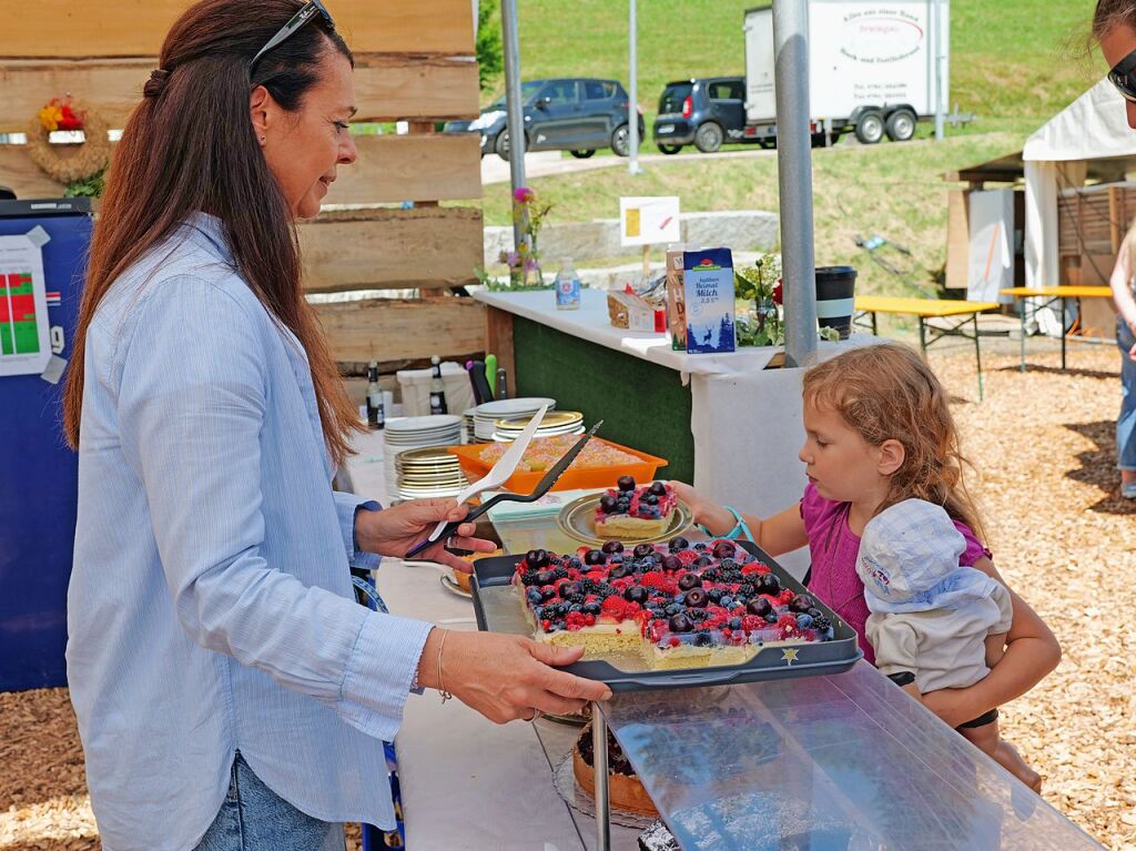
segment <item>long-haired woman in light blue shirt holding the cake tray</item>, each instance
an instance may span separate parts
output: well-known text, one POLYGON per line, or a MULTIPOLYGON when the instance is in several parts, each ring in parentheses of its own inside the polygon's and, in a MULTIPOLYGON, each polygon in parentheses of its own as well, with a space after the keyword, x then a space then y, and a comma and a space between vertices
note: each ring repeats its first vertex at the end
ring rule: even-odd
POLYGON ((465 516, 332 490, 357 420, 294 220, 356 158, 351 70, 318 0, 202 0, 115 152, 66 392, 67 673, 115 851, 342 849, 343 821, 394 825, 375 740, 411 691, 498 723, 609 694, 550 667, 579 649, 351 599, 350 566, 465 516))

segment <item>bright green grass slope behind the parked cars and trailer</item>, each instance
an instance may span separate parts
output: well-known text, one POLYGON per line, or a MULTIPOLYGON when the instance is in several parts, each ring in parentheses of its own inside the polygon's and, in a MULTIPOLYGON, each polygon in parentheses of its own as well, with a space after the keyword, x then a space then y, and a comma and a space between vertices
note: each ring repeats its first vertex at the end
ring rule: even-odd
MULTIPOLYGON (((638 101, 651 126, 663 85, 745 73, 742 18, 759 0, 640 0, 638 101)), ((1095 0, 953 0, 951 102, 976 112, 976 130, 1043 122, 1104 73, 1083 47, 1095 0)), ((628 82, 625 0, 523 0, 525 80, 613 77, 628 82)), ((504 91, 498 81, 484 102, 504 91)))

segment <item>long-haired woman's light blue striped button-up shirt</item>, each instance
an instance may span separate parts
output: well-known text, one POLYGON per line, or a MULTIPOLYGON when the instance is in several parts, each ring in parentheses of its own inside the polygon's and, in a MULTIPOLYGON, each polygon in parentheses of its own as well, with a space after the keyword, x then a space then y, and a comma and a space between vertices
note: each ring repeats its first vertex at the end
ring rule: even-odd
POLYGON ((106 848, 192 849, 240 749, 327 821, 393 827, 383 750, 431 626, 353 600, 311 374, 199 215, 86 339, 67 678, 106 848))

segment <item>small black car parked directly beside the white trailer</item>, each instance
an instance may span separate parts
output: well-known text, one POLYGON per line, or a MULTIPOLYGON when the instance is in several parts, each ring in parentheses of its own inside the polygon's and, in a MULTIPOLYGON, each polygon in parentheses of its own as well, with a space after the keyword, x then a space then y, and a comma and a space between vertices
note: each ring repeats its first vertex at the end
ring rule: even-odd
POLYGON ((744 142, 745 77, 699 77, 667 83, 654 119, 654 143, 663 153, 693 144, 712 153, 724 142, 744 142))

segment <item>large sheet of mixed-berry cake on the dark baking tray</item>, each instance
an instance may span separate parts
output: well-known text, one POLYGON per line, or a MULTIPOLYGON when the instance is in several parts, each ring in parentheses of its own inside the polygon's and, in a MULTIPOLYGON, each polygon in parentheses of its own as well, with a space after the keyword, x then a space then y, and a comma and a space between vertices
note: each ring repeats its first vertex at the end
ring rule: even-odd
POLYGON ((537 641, 583 644, 584 659, 638 657, 649 669, 741 665, 763 648, 830 641, 809 594, 733 541, 625 549, 608 541, 575 556, 531 550, 513 585, 537 641))

